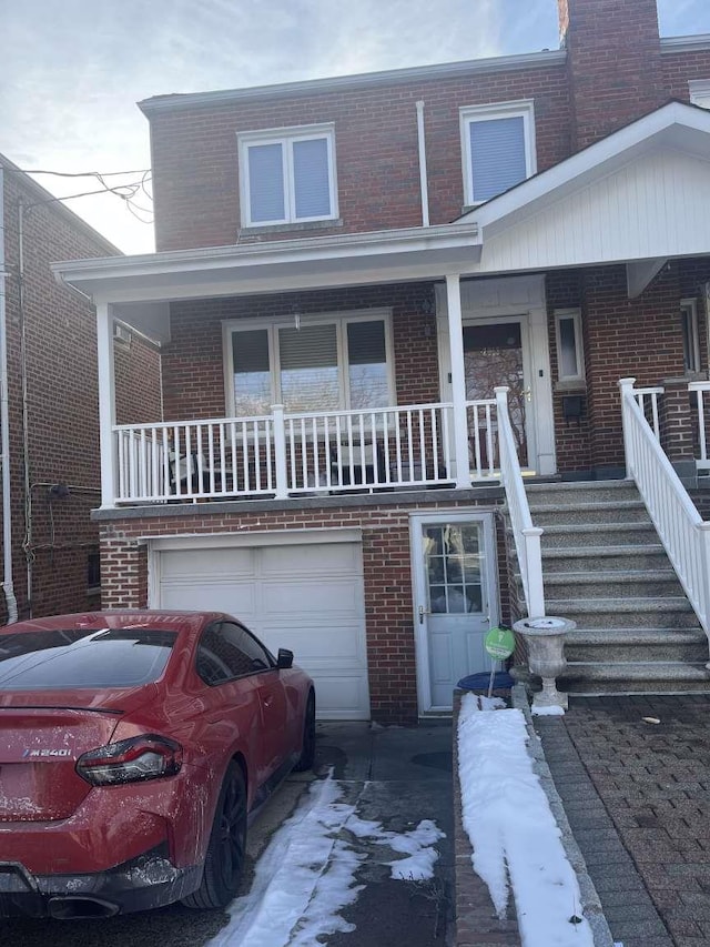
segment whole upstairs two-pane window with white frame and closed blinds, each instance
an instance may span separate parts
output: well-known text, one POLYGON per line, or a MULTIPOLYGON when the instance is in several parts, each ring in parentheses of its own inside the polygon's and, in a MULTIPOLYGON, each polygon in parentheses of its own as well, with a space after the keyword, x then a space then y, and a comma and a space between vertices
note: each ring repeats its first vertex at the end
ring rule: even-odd
POLYGON ((239 152, 243 226, 337 216, 333 125, 240 134, 239 152))

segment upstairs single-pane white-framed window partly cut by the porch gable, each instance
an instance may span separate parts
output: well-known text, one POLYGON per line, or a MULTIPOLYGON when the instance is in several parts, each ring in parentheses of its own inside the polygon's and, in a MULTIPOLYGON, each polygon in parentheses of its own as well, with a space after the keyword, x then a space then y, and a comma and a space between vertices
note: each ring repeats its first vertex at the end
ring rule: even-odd
POLYGON ((460 110, 464 201, 480 204, 536 172, 531 101, 460 110))

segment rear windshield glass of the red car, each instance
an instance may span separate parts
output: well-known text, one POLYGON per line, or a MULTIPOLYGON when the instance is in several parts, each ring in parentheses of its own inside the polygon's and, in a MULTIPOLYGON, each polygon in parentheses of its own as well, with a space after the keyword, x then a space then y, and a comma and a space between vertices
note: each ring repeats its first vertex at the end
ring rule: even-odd
POLYGON ((0 635, 0 692, 135 687, 163 673, 176 632, 69 628, 0 635))

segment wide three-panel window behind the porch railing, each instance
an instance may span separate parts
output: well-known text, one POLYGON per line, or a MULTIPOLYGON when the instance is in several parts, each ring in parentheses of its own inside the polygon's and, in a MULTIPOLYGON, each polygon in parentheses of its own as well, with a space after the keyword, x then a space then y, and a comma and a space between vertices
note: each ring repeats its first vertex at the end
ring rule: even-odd
POLYGON ((235 417, 394 404, 389 313, 225 323, 227 406, 235 417), (297 324, 296 324, 297 323, 297 324))

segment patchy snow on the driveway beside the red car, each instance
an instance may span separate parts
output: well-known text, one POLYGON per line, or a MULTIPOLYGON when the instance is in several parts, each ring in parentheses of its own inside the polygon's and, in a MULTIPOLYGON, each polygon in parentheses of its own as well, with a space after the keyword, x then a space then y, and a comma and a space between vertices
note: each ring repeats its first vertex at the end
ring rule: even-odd
POLYGON ((349 844, 353 836, 407 856, 386 863, 393 878, 432 877, 438 858, 433 846, 444 837, 434 822, 386 832, 381 823, 362 819, 357 804, 343 803, 342 796, 332 777, 313 783, 258 859, 251 891, 232 901, 230 923, 209 947, 307 947, 318 935, 354 930, 339 916, 363 889, 355 873, 367 856, 349 844))

